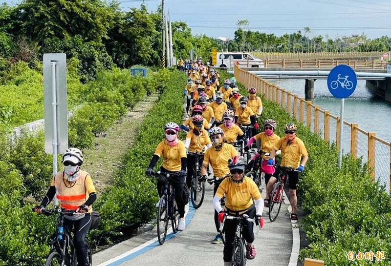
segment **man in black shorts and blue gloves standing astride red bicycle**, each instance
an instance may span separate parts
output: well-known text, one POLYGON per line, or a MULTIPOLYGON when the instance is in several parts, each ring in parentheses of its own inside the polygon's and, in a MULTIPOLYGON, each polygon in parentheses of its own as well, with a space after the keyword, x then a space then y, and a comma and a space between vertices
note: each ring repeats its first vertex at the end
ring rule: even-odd
MULTIPOLYGON (((270 159, 267 160, 267 164, 274 165, 274 156, 276 152, 281 149, 282 154, 282 166, 290 166, 296 168, 297 171, 303 172, 304 166, 308 160, 308 152, 301 139, 296 136, 297 127, 294 123, 287 123, 284 126, 285 137, 281 138, 270 152, 270 159), (303 159, 302 159, 303 158, 303 159), (300 161, 302 163, 300 164, 300 161)), ((299 173, 297 171, 288 171, 289 175, 289 195, 290 205, 292 206, 292 213, 290 215, 291 220, 297 220, 296 207, 297 207, 297 196, 296 188, 297 182, 299 181, 299 173)), ((273 189, 273 185, 276 183, 277 178, 281 171, 277 169, 273 176, 270 178, 269 183, 266 186, 266 199, 269 199, 270 193, 273 189)))

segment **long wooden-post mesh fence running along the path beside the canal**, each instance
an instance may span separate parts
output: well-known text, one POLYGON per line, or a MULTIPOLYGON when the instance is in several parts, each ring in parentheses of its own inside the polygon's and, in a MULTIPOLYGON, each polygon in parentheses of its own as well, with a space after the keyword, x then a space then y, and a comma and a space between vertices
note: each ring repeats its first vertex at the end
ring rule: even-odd
POLYGON ((382 184, 386 191, 391 187, 391 143, 376 137, 375 132, 367 132, 358 127, 357 123, 344 121, 343 141, 339 143, 340 123, 339 116, 323 110, 311 101, 305 101, 297 94, 267 82, 238 66, 234 67, 234 76, 238 82, 246 87, 255 87, 258 93, 273 102, 277 102, 292 117, 304 123, 311 132, 318 134, 328 143, 335 143, 337 148, 342 144, 344 154, 351 154, 353 158, 363 158, 368 163, 368 173, 382 184))

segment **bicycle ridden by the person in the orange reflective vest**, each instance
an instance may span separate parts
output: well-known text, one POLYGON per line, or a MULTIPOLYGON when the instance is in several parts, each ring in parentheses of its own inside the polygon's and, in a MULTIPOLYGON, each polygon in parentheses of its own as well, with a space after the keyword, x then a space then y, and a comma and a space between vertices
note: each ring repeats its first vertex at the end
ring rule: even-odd
MULTIPOLYGON (((34 208, 32 208, 34 211, 34 208)), ((73 245, 71 232, 64 228, 65 215, 73 216, 75 211, 67 211, 64 208, 42 209, 42 214, 59 215, 56 231, 51 239, 49 256, 47 256, 45 266, 77 266, 76 250, 73 245)), ((92 266, 91 246, 87 238, 84 241, 87 251, 87 265, 92 266)))

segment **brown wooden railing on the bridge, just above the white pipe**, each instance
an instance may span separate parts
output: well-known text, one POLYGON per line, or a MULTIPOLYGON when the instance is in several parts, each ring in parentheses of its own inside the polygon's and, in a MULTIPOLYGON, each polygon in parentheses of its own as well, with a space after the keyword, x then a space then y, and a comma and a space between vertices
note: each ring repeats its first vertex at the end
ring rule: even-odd
POLYGON ((265 67, 282 68, 333 68, 346 64, 353 69, 387 69, 387 62, 369 60, 334 59, 265 59, 265 67))

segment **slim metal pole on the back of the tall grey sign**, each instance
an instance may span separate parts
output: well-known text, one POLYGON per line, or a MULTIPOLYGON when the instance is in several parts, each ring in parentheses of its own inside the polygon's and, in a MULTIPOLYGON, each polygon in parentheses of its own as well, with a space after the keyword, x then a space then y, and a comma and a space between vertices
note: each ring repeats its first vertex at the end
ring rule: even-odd
MULTIPOLYGON (((57 174, 57 89, 56 89, 56 61, 51 61, 52 74, 52 112, 53 112, 53 177, 57 174)), ((58 205, 54 197, 54 206, 58 205)))

